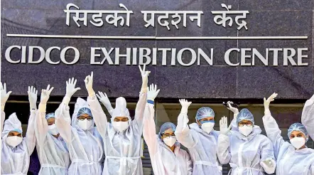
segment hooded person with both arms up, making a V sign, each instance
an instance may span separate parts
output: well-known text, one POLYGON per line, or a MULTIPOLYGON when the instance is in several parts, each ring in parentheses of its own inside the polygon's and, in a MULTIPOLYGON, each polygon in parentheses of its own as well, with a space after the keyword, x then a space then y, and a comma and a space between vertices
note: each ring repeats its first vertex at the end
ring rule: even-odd
MULTIPOLYGON (((141 70, 141 67, 140 67, 141 70)), ((141 162, 141 135, 143 132, 143 118, 146 104, 146 92, 149 71, 141 70, 142 87, 139 95, 139 102, 136 105, 135 117, 131 121, 129 110, 126 108, 126 101, 119 97, 116 107, 112 112, 112 123, 107 122, 107 117, 97 100, 92 88, 93 76, 87 76, 85 85, 88 91, 87 102, 92 110, 99 134, 104 139, 104 161, 103 174, 119 175, 141 175, 143 174, 141 162)), ((107 98, 99 92, 100 101, 107 98)))

